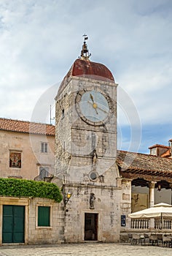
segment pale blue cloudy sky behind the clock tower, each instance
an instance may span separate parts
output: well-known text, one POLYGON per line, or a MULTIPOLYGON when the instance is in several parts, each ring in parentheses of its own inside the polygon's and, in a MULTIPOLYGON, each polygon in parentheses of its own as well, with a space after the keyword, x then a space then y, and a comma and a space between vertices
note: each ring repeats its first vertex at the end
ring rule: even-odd
POLYGON ((118 149, 149 153, 172 138, 171 0, 0 0, 0 117, 50 123, 80 55, 114 75, 118 149))

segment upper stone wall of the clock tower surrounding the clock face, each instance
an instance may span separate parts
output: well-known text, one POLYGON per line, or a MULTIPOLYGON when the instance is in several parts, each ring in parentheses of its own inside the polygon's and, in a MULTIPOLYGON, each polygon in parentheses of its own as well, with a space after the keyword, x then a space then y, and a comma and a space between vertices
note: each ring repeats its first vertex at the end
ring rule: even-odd
POLYGON ((57 176, 67 174, 71 182, 84 182, 95 169, 95 149, 98 155, 95 171, 102 175, 110 169, 113 178, 106 178, 106 181, 113 180, 110 184, 114 185, 118 175, 114 167, 117 157, 117 84, 78 77, 72 77, 66 83, 65 89, 56 97, 55 173, 57 176), (80 118, 76 97, 82 89, 100 89, 111 97, 113 113, 105 125, 91 126, 80 118))

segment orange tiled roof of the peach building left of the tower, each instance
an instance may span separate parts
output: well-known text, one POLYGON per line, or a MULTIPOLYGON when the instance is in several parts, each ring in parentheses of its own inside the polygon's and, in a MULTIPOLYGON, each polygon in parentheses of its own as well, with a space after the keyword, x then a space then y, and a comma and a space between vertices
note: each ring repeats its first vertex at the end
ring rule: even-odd
POLYGON ((0 118, 0 130, 10 132, 24 132, 39 135, 55 135, 55 126, 51 124, 41 124, 30 121, 12 120, 0 118))

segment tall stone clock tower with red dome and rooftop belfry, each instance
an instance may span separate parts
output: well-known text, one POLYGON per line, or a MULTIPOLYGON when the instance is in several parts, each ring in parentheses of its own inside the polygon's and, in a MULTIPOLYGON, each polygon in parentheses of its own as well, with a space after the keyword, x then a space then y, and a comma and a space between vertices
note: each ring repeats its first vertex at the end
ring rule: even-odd
POLYGON ((118 241, 117 83, 106 66, 90 61, 86 40, 55 97, 55 173, 63 184, 64 238, 118 241))

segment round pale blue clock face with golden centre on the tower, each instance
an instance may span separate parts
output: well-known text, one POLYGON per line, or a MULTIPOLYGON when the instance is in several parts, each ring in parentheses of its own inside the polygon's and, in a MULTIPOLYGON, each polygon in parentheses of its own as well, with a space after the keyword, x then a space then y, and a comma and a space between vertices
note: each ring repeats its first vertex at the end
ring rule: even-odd
POLYGON ((112 115, 112 101, 103 91, 79 91, 76 108, 79 116, 92 125, 102 125, 112 115))

